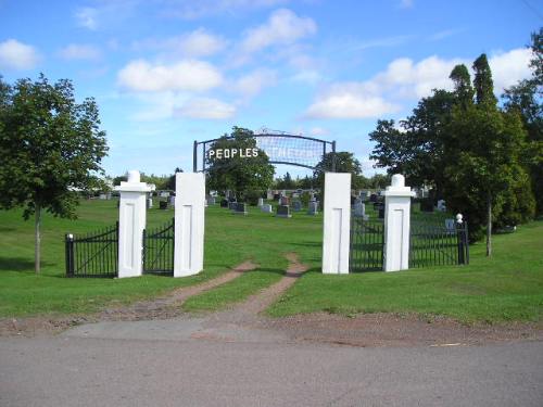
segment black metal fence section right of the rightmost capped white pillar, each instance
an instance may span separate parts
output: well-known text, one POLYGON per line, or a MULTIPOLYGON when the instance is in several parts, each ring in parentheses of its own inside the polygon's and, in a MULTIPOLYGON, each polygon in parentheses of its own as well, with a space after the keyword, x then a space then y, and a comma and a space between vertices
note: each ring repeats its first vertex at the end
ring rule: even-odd
POLYGON ((409 268, 469 264, 467 222, 412 221, 409 268))

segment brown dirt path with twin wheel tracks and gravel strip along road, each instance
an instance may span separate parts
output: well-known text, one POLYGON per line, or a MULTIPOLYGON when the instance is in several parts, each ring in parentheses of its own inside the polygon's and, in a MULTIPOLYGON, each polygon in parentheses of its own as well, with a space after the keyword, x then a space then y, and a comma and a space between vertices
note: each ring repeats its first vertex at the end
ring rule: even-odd
POLYGON ((161 298, 112 308, 90 317, 0 320, 0 335, 34 336, 40 333, 56 333, 85 322, 99 322, 79 327, 81 328, 79 333, 77 328, 67 333, 84 336, 96 334, 97 338, 142 335, 144 339, 153 340, 160 340, 160 335, 163 335, 164 339, 195 341, 319 342, 348 346, 463 346, 489 342, 543 340, 543 322, 466 326, 449 318, 429 319, 415 314, 361 314, 345 317, 318 313, 267 318, 262 313, 307 269, 300 263, 296 254, 290 253, 286 257, 289 266, 278 282, 226 310, 203 317, 185 314, 180 305, 187 298, 231 281, 257 266, 245 262, 201 284, 180 288, 161 298))

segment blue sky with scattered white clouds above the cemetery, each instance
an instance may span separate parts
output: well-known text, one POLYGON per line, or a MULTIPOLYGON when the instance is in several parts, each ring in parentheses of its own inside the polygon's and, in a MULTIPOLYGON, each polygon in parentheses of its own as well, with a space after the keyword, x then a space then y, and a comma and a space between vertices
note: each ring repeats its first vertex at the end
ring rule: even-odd
POLYGON ((193 140, 242 126, 336 140, 369 176, 378 118, 482 52, 497 94, 528 77, 542 16, 535 0, 0 0, 0 74, 94 97, 109 175, 190 170, 193 140))

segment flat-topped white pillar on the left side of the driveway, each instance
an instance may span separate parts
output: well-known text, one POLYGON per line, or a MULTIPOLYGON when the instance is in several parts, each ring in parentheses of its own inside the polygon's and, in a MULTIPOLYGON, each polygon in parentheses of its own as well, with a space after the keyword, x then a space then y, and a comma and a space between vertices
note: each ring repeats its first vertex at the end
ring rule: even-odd
POLYGON ((203 269, 205 176, 177 173, 175 191, 174 277, 192 276, 203 269))

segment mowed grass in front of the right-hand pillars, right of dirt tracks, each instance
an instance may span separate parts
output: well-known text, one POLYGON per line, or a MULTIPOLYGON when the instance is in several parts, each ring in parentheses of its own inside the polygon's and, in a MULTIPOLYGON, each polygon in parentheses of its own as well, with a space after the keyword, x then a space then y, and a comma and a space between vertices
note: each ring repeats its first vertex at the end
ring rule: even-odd
POLYGON ((463 322, 540 321, 543 317, 543 221, 470 247, 469 266, 324 276, 314 269, 268 309, 275 317, 329 311, 418 313, 463 322))

